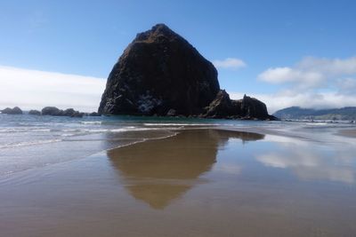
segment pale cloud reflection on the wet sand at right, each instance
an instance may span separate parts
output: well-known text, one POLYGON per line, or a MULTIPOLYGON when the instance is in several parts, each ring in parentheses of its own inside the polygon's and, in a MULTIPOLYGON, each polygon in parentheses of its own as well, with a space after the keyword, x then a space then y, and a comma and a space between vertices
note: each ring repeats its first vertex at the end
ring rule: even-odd
POLYGON ((277 153, 263 154, 256 157, 265 166, 290 169, 301 179, 321 179, 352 184, 355 171, 352 169, 352 153, 322 153, 307 146, 289 144, 277 153))

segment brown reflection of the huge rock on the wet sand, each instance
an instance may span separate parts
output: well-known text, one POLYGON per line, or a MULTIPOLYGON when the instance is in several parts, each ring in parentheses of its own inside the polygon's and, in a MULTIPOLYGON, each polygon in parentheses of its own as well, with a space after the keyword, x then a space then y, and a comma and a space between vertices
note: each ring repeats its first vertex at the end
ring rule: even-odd
POLYGON ((228 130, 185 130, 172 138, 111 150, 108 155, 134 198, 163 209, 212 169, 222 141, 261 136, 228 130))

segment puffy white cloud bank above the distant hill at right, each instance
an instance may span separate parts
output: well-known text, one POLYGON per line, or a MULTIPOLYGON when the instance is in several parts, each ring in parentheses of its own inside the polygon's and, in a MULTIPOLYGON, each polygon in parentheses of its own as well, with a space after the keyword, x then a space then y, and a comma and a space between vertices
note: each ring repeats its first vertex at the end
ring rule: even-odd
MULTIPOLYGON (((271 94, 252 94, 266 103, 269 112, 285 107, 333 108, 356 106, 356 57, 320 59, 307 57, 292 67, 271 67, 258 80, 278 86, 271 94)), ((231 98, 243 94, 231 92, 231 98)))

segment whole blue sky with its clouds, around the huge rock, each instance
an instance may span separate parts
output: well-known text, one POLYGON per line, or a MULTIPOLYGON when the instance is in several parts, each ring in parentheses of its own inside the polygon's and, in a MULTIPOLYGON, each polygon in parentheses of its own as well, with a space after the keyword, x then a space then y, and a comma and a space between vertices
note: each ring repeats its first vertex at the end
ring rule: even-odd
POLYGON ((356 1, 0 1, 0 109, 96 111, 137 33, 165 23, 232 99, 356 106, 356 1))

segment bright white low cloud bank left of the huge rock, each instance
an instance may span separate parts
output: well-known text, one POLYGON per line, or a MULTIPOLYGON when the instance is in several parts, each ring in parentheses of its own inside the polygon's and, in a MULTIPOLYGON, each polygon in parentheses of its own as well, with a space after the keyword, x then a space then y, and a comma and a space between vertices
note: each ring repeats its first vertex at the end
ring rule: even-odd
POLYGON ((96 111, 106 80, 92 76, 0 66, 0 108, 73 107, 96 111))

